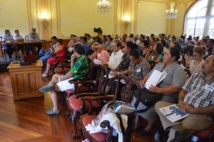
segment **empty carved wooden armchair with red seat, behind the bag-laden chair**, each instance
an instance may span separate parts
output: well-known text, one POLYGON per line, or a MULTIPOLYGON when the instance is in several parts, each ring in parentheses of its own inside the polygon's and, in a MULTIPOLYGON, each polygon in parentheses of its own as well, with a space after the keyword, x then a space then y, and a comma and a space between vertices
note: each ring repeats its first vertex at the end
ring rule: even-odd
POLYGON ((96 80, 69 81, 70 83, 75 84, 75 91, 77 90, 77 92, 80 92, 79 84, 87 88, 87 92, 74 93, 74 95, 70 96, 68 99, 70 120, 72 121, 72 124, 74 126, 74 139, 78 138, 76 123, 77 120, 79 120, 80 116, 88 112, 89 105, 93 106, 93 108, 100 108, 101 106, 99 101, 91 101, 90 103, 88 103, 84 100, 81 100, 80 97, 94 97, 105 95, 105 89, 108 81, 108 70, 106 67, 98 65, 98 71, 96 74, 96 80))

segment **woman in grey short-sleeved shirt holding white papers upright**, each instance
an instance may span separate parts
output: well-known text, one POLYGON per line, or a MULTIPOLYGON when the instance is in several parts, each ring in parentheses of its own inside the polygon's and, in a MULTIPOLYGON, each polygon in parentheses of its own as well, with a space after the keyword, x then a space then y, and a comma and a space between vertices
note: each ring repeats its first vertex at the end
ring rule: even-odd
MULTIPOLYGON (((178 93, 181 90, 181 87, 185 83, 185 72, 183 68, 178 64, 178 59, 180 58, 180 51, 176 48, 169 48, 163 57, 163 62, 160 62, 155 65, 153 70, 140 81, 141 86, 144 86, 146 81, 149 79, 150 75, 154 70, 165 71, 167 73, 166 77, 161 81, 157 86, 151 86, 149 91, 153 93, 161 94, 162 101, 175 103, 178 100, 178 93)), ((143 95, 143 94, 142 94, 143 95)), ((136 99, 134 97, 134 99, 136 99)), ((142 106, 140 102, 138 106, 142 106), (141 105, 140 105, 141 104, 141 105)), ((141 107, 138 107, 138 110, 141 110, 141 107)), ((155 112, 154 106, 148 108, 147 111, 138 113, 136 119, 136 128, 140 126, 140 116, 147 120, 148 124, 141 132, 141 135, 148 135, 151 131, 155 121, 158 118, 157 113, 155 112)))

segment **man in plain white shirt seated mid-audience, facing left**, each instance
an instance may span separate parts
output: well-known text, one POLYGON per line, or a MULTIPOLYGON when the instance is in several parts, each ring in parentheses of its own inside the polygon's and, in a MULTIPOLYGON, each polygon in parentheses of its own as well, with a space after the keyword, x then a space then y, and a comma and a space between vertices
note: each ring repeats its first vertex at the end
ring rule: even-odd
POLYGON ((113 41, 112 44, 113 52, 109 58, 108 63, 104 65, 108 66, 111 70, 114 70, 121 62, 123 57, 123 52, 121 51, 121 42, 119 40, 113 41))

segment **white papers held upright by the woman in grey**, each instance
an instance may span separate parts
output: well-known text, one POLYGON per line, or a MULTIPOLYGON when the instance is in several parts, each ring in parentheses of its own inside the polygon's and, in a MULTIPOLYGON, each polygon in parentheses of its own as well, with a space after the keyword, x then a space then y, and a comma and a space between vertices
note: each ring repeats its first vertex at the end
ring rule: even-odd
POLYGON ((156 86, 158 85, 165 77, 167 73, 160 72, 158 70, 154 70, 153 73, 150 75, 149 79, 146 81, 145 87, 149 90, 150 86, 156 86))

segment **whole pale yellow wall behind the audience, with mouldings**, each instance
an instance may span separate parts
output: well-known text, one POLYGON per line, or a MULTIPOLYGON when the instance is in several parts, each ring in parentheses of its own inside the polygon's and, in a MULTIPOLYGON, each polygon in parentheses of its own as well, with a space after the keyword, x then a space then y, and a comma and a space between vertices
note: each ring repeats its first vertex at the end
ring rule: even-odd
POLYGON ((23 36, 35 27, 41 38, 52 35, 68 38, 76 34, 90 33, 94 27, 101 27, 103 34, 146 34, 167 33, 181 35, 184 14, 195 0, 175 0, 177 19, 167 20, 165 10, 170 0, 109 0, 111 11, 105 15, 97 12, 98 0, 0 0, 0 35, 5 29, 14 34, 19 29, 23 36), (49 19, 46 28, 42 25, 41 13, 46 11, 49 19), (130 23, 122 21, 129 14, 130 23))

